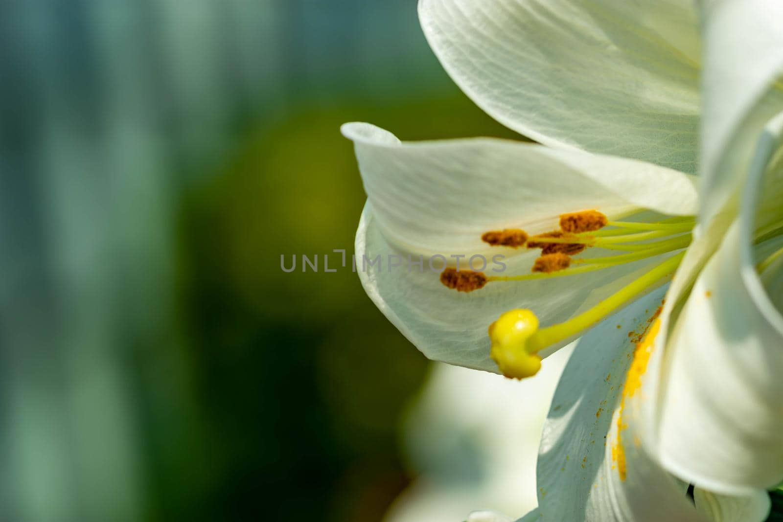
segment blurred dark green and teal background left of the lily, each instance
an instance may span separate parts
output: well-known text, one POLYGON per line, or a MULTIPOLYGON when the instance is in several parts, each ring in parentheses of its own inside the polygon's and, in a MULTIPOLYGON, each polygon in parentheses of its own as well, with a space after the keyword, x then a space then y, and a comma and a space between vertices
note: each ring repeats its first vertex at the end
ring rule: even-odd
POLYGON ((0 3, 0 520, 381 520, 428 363, 280 255, 352 252, 340 124, 513 137, 416 3, 0 3))

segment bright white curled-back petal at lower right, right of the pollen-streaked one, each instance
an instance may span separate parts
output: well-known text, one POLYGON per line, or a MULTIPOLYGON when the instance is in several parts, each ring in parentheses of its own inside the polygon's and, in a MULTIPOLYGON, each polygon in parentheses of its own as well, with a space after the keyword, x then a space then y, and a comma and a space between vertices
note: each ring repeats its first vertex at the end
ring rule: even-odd
POLYGON ((760 139, 740 218, 655 363, 649 391, 658 401, 645 415, 648 442, 670 470, 730 494, 783 478, 783 317, 756 273, 763 248, 753 247, 756 229, 783 217, 781 129, 777 117, 760 139))

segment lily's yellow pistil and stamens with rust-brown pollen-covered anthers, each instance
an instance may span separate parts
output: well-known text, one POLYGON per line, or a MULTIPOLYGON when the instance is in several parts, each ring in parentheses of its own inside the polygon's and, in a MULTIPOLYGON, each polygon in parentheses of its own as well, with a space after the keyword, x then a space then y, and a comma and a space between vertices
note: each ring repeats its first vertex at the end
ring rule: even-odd
MULTIPOLYGON (((540 248, 542 255, 533 263, 531 273, 488 276, 482 272, 446 268, 441 274, 441 281, 449 288, 470 292, 493 282, 513 283, 594 272, 682 250, 691 243, 690 231, 694 225, 695 220, 690 216, 636 222, 610 221, 598 211, 563 214, 560 219, 561 229, 557 231, 528 236, 518 229, 506 229, 487 232, 482 236, 487 243, 514 248, 521 246, 518 241, 509 245, 500 240, 494 242, 487 239, 524 237, 526 247, 540 248), (574 257, 589 247, 615 251, 617 254, 574 257)), ((492 342, 490 356, 504 376, 522 379, 534 375, 541 365, 541 358, 537 355, 539 351, 594 326, 623 304, 671 277, 683 257, 684 252, 667 257, 593 308, 559 324, 539 328, 539 320, 533 311, 516 309, 505 312, 489 326, 492 342)))

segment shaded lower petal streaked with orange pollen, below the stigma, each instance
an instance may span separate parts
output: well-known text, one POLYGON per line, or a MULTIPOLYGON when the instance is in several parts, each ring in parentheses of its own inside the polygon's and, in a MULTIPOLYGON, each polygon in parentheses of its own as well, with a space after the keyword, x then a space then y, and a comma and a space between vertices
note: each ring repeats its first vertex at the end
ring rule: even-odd
POLYGON ((543 520, 706 520, 684 484, 638 445, 633 413, 620 409, 634 341, 663 295, 659 289, 631 304, 576 345, 544 425, 537 470, 543 520))

